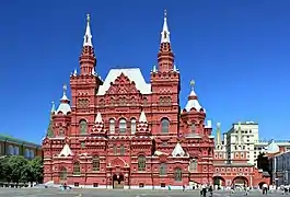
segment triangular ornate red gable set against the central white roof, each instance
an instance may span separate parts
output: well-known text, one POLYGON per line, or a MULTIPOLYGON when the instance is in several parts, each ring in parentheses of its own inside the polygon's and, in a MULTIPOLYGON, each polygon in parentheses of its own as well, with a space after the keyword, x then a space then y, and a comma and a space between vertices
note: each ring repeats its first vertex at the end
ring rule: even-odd
POLYGON ((123 72, 115 80, 111 82, 109 89, 106 91, 106 94, 139 94, 140 91, 137 90, 134 81, 130 81, 127 76, 123 72))

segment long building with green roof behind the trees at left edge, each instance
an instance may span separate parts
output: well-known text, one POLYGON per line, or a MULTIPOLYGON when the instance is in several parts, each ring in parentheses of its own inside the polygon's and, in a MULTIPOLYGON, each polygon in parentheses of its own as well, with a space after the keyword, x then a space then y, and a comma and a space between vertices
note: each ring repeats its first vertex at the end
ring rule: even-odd
POLYGON ((23 155, 33 159, 42 157, 42 146, 0 135, 0 155, 23 155))

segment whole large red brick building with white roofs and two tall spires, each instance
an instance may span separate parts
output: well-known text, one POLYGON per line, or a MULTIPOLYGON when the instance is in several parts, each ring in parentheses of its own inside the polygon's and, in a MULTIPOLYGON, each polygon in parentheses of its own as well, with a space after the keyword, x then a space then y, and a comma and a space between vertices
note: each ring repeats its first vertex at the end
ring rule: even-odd
POLYGON ((43 140, 44 182, 98 188, 179 188, 211 184, 214 138, 192 92, 179 106, 181 73, 174 65, 166 14, 158 67, 146 82, 139 68, 95 72, 90 16, 80 72, 70 76, 71 103, 53 105, 43 140))

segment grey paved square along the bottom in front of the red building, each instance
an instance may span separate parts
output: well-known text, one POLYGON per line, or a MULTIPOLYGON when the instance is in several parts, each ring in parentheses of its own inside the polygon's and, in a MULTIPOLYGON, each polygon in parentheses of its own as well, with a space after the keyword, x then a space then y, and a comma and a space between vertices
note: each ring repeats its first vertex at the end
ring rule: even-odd
MULTIPOLYGON (((199 197, 197 190, 106 190, 106 189, 71 189, 58 188, 0 188, 0 197, 199 197)), ((244 193, 230 194, 214 192, 213 197, 242 197, 244 193)), ((262 197, 260 192, 252 192, 248 197, 262 197)), ((280 193, 268 194, 269 197, 279 197, 280 193)))

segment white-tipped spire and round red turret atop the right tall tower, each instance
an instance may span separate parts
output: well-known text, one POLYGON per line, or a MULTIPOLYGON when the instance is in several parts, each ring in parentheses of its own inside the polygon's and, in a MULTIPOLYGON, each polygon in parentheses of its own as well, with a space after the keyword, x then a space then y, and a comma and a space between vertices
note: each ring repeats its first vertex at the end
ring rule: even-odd
POLYGON ((164 11, 163 28, 161 32, 160 49, 158 53, 158 65, 160 72, 167 72, 174 69, 174 54, 171 49, 166 10, 164 11))

